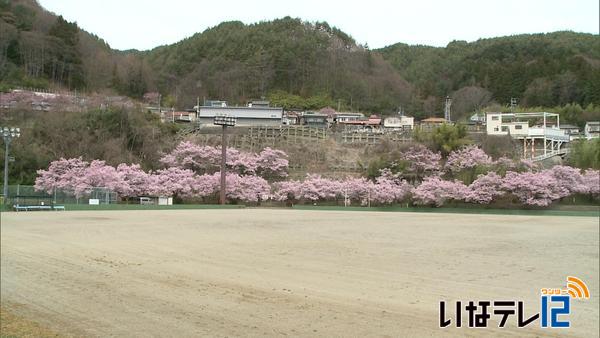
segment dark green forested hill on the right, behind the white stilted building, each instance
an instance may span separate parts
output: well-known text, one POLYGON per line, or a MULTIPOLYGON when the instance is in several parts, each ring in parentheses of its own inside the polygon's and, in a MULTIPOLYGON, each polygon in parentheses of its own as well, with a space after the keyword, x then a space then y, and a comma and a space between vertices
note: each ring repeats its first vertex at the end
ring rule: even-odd
MULTIPOLYGON (((494 100, 523 106, 600 104, 600 38, 556 32, 455 41, 445 48, 398 43, 379 52, 429 100, 451 95, 459 113, 494 100)), ((439 109, 439 108, 438 108, 439 109)))

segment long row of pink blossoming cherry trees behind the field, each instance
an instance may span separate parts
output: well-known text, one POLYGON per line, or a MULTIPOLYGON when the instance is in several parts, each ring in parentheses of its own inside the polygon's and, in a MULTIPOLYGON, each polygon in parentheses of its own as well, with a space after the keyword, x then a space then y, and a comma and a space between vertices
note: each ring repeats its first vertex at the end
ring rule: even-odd
MULTIPOLYGON (((165 169, 145 172, 136 164, 107 165, 81 158, 60 159, 39 170, 36 189, 71 191, 83 197, 105 187, 121 197, 171 196, 214 201, 219 191, 221 150, 190 142, 180 143, 161 158, 165 169)), ((467 146, 443 160, 439 153, 417 145, 401 161, 384 169, 375 180, 348 177, 335 180, 307 175, 286 180, 287 155, 265 148, 260 153, 227 149, 227 198, 242 202, 265 199, 287 202, 345 201, 385 205, 413 203, 490 204, 501 199, 525 205, 548 206, 567 196, 600 195, 599 173, 567 166, 541 170, 530 162, 508 158, 492 160, 481 149, 467 146)))

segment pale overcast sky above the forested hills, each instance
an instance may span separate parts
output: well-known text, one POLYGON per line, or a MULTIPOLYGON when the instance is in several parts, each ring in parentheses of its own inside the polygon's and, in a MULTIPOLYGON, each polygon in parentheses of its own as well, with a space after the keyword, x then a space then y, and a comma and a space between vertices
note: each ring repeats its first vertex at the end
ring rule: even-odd
POLYGON ((327 21, 357 42, 445 46, 452 40, 572 30, 599 33, 599 0, 38 0, 116 49, 152 49, 223 21, 327 21))

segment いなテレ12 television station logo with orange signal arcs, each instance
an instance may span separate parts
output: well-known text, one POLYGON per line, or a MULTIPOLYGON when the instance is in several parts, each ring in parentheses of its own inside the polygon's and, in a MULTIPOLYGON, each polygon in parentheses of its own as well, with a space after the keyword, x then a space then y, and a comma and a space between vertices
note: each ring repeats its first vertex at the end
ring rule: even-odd
MULTIPOLYGON (((446 301, 440 301, 440 328, 463 327, 463 314, 467 327, 486 328, 492 315, 499 318, 498 327, 505 327, 510 316, 514 316, 517 327, 526 327, 539 319, 542 328, 569 328, 572 300, 589 299, 590 291, 587 285, 574 276, 567 277, 565 288, 541 288, 540 312, 525 313, 524 302, 517 300, 469 300, 456 301, 454 318, 448 318, 452 310, 446 310, 446 301), (464 307, 463 307, 463 304, 464 307), (464 310, 464 312, 463 312, 464 310)), ((452 306, 449 306, 451 308, 452 306)))

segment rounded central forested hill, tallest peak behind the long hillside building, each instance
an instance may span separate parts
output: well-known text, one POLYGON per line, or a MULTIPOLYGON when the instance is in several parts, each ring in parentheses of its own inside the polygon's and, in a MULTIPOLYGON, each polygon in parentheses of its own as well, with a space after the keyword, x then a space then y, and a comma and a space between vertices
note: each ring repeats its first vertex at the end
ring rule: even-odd
POLYGON ((159 85, 174 88, 185 102, 198 95, 237 102, 285 99, 283 92, 318 97, 323 105, 341 100, 353 109, 377 111, 407 103, 411 96, 410 85, 379 53, 327 23, 289 17, 253 25, 222 23, 144 58, 159 85))

